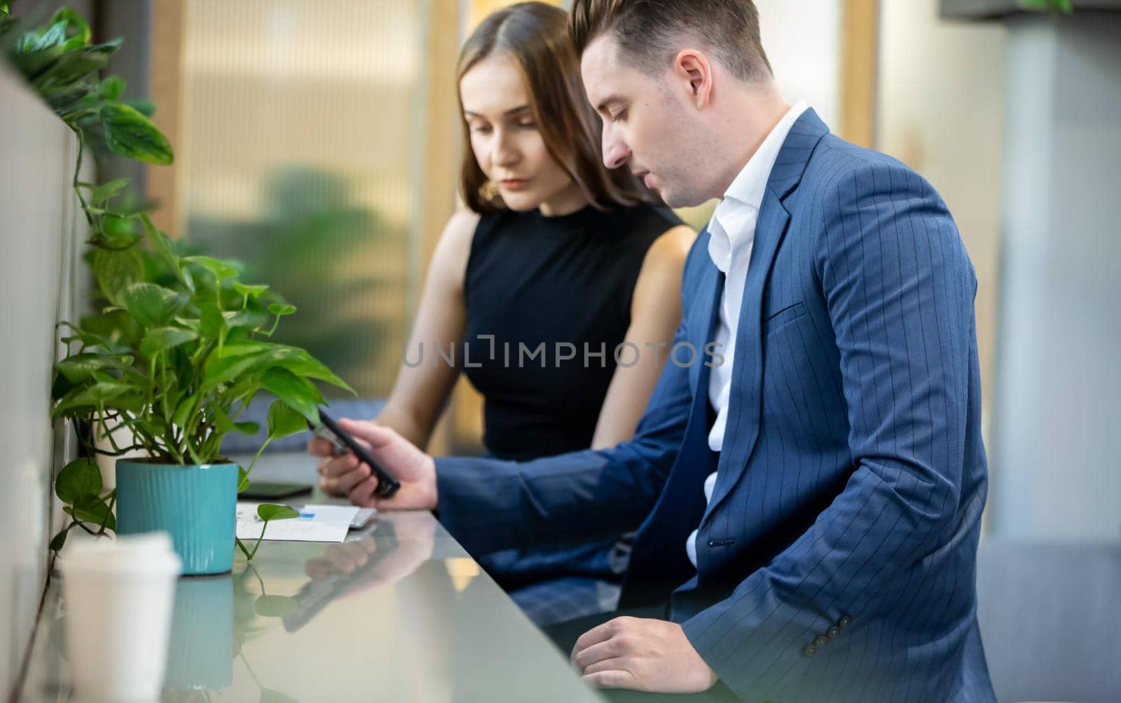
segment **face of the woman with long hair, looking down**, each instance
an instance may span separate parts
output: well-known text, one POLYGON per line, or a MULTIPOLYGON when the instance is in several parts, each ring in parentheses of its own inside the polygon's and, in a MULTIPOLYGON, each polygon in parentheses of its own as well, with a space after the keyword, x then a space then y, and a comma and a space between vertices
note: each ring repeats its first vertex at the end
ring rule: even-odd
POLYGON ((460 80, 471 149, 507 207, 546 215, 580 210, 575 182, 549 156, 537 130, 521 71, 509 55, 479 62, 460 80))

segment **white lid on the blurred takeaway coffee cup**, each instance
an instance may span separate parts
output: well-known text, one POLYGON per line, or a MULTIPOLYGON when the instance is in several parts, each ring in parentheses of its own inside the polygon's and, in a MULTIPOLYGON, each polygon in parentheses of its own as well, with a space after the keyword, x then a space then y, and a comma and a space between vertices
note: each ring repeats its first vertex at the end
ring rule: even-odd
POLYGON ((183 571, 167 533, 113 538, 71 534, 58 555, 58 566, 64 576, 72 572, 178 575, 183 571))

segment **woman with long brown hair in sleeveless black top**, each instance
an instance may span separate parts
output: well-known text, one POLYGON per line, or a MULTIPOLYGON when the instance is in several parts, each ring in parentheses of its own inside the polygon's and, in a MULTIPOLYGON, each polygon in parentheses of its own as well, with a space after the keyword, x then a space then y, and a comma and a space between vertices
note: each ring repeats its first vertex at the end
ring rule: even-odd
MULTIPOLYGON (((461 53, 467 209, 441 235, 377 418, 417 446, 461 371, 483 396, 483 443, 497 457, 630 440, 680 322, 695 233, 632 174, 603 166, 566 21, 558 8, 516 4, 484 19, 461 53)), ((323 457, 324 490, 372 505, 353 455, 333 457, 322 441, 309 448, 323 457)), ((475 556, 546 625, 613 609, 626 552, 621 535, 475 556)))

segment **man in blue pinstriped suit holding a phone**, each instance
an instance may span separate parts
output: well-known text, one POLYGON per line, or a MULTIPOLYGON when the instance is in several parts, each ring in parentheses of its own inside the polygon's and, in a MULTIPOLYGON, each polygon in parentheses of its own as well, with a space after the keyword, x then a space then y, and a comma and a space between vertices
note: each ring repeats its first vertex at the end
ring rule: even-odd
MULTIPOLYGON (((640 524, 621 608, 664 609, 580 637, 600 686, 992 701, 976 278, 945 203, 782 101, 750 0, 574 6, 608 166, 673 206, 722 198, 686 265, 686 351, 612 450, 432 460, 350 423, 402 482, 373 502, 438 509, 476 554, 640 524), (683 362, 713 341, 724 363, 683 362)), ((354 466, 326 470, 370 503, 354 466)))

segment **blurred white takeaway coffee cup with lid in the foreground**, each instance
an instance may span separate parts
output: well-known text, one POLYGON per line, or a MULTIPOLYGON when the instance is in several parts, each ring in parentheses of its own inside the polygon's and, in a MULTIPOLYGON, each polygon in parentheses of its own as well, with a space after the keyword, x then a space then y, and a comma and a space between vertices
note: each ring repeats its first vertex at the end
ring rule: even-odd
POLYGON ((175 581, 183 571, 172 538, 167 533, 74 537, 58 566, 75 693, 90 701, 157 699, 175 581))

